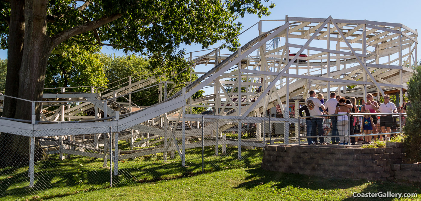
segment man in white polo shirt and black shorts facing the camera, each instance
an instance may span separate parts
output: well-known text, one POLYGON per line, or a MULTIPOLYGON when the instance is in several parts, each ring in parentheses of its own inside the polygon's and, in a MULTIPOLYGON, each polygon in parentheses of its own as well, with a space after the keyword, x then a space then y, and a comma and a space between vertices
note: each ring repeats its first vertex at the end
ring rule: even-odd
MULTIPOLYGON (((384 95, 384 103, 381 103, 378 108, 378 113, 397 113, 397 108, 394 103, 389 101, 390 95, 384 95)), ((380 116, 380 130, 383 133, 391 132, 390 128, 393 126, 392 114, 380 116), (386 128, 386 129, 385 129, 386 128)), ((386 141, 390 140, 390 135, 386 135, 386 141)))

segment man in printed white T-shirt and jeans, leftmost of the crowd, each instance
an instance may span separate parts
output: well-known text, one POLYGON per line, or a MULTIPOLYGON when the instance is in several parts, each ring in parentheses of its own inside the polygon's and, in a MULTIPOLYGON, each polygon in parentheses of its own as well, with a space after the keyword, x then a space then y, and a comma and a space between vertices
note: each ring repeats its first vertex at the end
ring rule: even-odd
MULTIPOLYGON (((306 100, 306 106, 309 110, 310 116, 321 116, 323 112, 320 111, 319 108, 325 110, 325 106, 322 105, 320 100, 316 98, 316 92, 314 90, 310 90, 309 92, 310 97, 306 100)), ((314 117, 311 118, 310 128, 312 132, 312 136, 316 135, 316 129, 318 130, 319 135, 323 135, 323 119, 322 117, 314 117)), ((313 145, 326 145, 325 138, 319 138, 320 143, 317 142, 317 138, 313 138, 313 145)))

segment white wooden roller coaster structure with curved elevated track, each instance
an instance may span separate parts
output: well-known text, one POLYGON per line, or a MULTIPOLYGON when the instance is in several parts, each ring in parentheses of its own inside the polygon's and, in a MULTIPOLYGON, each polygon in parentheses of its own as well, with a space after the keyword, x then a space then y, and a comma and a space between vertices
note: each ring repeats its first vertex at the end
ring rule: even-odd
MULTIPOLYGON (((327 19, 287 16, 285 20, 276 22, 283 25, 266 32, 262 31, 265 21, 256 23, 259 35, 230 55, 221 54, 219 48, 204 56, 187 54, 192 66, 186 66, 186 70, 205 65, 213 67, 204 73, 194 72, 202 75, 171 97, 167 97, 169 92, 166 87, 164 91, 160 90, 160 102, 155 105, 135 106, 131 102, 131 94, 154 83, 166 86, 173 81, 158 83, 154 78, 131 80, 127 77, 125 84, 101 94, 96 93, 99 87, 91 87, 91 93, 66 93, 63 88, 61 93, 44 95, 44 108, 69 102, 80 104, 73 107, 60 105, 59 109, 30 122, 0 118, 0 132, 30 137, 93 135, 96 144, 83 145, 73 140, 73 145, 94 150, 98 148, 101 134, 109 133, 112 127, 112 132, 120 133, 116 139, 130 139, 132 147, 148 145, 151 139, 163 138, 164 147, 155 152, 178 151, 183 158, 186 148, 196 146, 186 145, 186 136, 201 134, 199 125, 195 128, 190 123, 197 122, 202 115, 189 114, 191 107, 212 108, 214 115, 206 118, 235 121, 216 123, 216 131, 205 134, 218 133, 216 140, 220 139, 219 143, 263 147, 260 131, 254 142, 242 141, 240 137, 238 142, 227 142, 220 138, 220 131, 250 121, 251 117, 259 117, 278 104, 282 110, 288 109, 292 97, 305 98, 310 89, 324 93, 325 97, 336 91, 342 96, 357 98, 365 98, 366 93, 384 95, 385 90, 396 89, 400 92, 402 103, 402 93, 407 88, 405 83, 413 73, 408 66, 417 63, 418 33, 415 30, 403 24, 333 19, 330 16, 327 19), (240 77, 242 79, 238 79, 240 77), (356 86, 347 89, 349 85, 356 86), (206 87, 212 87, 214 93, 192 100, 193 94, 206 87), (243 87, 246 92, 227 92, 227 87, 243 87), (115 102, 122 96, 127 99, 126 103, 115 102), (91 111, 91 115, 75 116, 80 111, 91 111), (65 122, 65 119, 68 121, 65 122), (81 121, 69 122, 71 119, 81 121), (182 129, 176 131, 179 122, 182 129), (188 132, 186 126, 189 127, 188 132), (139 133, 148 133, 147 138, 135 142, 139 133), (180 146, 175 139, 181 139, 180 146), (174 145, 171 145, 171 140, 174 145)), ((289 118, 274 118, 273 121, 297 123, 296 119, 289 118)), ((288 143, 288 126, 284 135, 285 143, 288 143)), ((240 146, 238 148, 241 151, 240 146)), ((63 147, 59 153, 83 155, 82 151, 65 150, 63 147)), ((128 159, 142 154, 145 153, 127 151, 121 157, 128 159)), ((105 158, 105 155, 95 157, 105 158)))

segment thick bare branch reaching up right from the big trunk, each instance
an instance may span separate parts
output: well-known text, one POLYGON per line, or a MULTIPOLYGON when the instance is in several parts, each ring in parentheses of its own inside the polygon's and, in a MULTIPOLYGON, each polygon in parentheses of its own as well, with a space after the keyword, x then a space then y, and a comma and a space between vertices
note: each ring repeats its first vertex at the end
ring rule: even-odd
POLYGON ((119 19, 121 16, 123 16, 120 13, 112 14, 111 16, 105 16, 100 19, 97 19, 95 21, 89 21, 84 24, 72 27, 70 29, 64 30, 55 36, 51 38, 51 49, 55 48, 57 45, 59 45, 61 42, 69 39, 72 36, 75 36, 77 34, 85 33, 88 31, 91 31, 93 29, 96 29, 100 26, 103 26, 104 24, 107 24, 109 22, 115 21, 116 19, 119 19))

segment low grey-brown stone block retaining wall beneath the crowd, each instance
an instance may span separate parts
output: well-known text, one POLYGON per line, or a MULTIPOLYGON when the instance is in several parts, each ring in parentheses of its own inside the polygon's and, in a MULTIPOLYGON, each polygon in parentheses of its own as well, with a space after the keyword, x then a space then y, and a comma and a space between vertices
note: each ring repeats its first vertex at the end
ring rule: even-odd
POLYGON ((266 145, 262 168, 277 172, 339 178, 421 181, 418 164, 408 164, 402 143, 386 148, 266 145))

